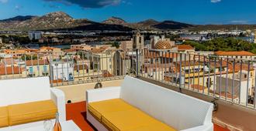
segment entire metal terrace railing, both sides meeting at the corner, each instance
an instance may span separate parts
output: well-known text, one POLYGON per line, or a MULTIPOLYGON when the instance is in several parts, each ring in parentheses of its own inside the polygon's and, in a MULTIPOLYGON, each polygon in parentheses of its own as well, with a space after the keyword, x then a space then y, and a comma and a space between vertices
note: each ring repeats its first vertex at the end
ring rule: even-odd
POLYGON ((0 79, 49 76, 67 86, 140 76, 256 109, 255 68, 253 59, 168 50, 31 52, 1 57, 0 79))

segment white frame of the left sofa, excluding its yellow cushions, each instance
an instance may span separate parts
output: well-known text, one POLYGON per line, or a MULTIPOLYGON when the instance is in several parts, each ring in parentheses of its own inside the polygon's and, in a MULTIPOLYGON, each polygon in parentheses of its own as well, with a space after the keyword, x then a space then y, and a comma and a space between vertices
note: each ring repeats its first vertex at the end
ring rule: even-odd
MULTIPOLYGON (((0 106, 52 99, 57 106, 60 121, 66 121, 64 92, 50 88, 49 77, 0 80, 0 106)), ((54 123, 54 119, 52 119, 54 123)), ((26 129, 42 125, 43 121, 0 128, 2 130, 26 129)))

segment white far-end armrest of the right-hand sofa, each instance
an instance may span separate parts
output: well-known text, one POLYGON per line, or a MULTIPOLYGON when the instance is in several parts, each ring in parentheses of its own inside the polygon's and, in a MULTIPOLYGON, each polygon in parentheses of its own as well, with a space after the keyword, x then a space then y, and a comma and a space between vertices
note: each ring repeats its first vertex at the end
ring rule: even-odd
POLYGON ((99 102, 107 99, 120 98, 120 86, 106 87, 103 89, 89 89, 86 91, 86 102, 99 102))

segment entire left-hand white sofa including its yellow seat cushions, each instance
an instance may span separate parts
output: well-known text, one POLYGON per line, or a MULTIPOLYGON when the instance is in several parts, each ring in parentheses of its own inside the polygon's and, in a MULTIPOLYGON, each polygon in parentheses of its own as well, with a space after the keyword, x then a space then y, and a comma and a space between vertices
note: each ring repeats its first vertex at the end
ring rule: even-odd
POLYGON ((22 129, 55 119, 66 121, 64 92, 51 89, 49 77, 0 81, 0 130, 22 129))

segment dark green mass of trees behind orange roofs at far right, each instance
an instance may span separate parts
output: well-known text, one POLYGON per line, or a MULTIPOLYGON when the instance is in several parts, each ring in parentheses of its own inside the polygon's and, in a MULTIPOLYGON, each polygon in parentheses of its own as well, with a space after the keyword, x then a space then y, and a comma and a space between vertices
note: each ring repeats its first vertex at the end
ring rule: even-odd
POLYGON ((186 41, 183 44, 192 45, 195 51, 247 51, 256 53, 256 44, 234 38, 218 38, 206 42, 186 41))

